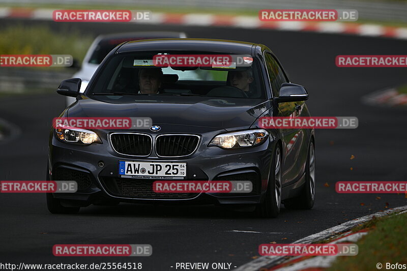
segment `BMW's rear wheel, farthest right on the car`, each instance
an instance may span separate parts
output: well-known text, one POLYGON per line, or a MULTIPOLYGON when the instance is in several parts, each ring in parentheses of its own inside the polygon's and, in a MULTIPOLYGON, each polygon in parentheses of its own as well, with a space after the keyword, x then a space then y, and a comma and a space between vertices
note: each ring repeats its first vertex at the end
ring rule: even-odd
POLYGON ((284 200, 287 209, 311 209, 315 202, 315 146, 311 140, 308 146, 307 162, 305 165, 305 184, 301 195, 284 200), (312 163, 312 167, 310 167, 312 163), (312 173, 313 168, 313 173, 312 173))

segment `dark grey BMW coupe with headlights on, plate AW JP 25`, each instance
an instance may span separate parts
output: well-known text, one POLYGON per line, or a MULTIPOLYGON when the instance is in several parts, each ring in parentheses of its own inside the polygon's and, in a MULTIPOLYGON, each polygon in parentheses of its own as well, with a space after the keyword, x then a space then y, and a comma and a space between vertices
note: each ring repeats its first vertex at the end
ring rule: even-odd
POLYGON ((259 126, 262 117, 310 116, 305 88, 290 83, 265 45, 210 39, 125 42, 106 56, 83 94, 80 85, 73 78, 59 86, 59 94, 76 98, 60 117, 148 117, 151 124, 148 129, 53 127, 47 179, 75 180, 78 190, 48 193, 51 213, 76 213, 90 204, 154 202, 247 204, 261 217, 276 217, 281 203, 313 206, 314 130, 259 126), (172 55, 228 55, 233 61, 201 65, 183 58, 157 65, 157 57, 172 55), (252 189, 158 193, 153 183, 162 179, 244 180, 252 189))

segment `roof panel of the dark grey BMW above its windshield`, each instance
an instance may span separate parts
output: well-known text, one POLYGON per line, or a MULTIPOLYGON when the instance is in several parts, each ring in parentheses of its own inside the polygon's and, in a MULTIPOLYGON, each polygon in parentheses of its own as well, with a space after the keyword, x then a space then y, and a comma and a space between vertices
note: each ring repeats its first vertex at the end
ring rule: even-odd
POLYGON ((152 39, 126 42, 117 52, 183 50, 251 55, 253 45, 243 41, 215 39, 152 39))

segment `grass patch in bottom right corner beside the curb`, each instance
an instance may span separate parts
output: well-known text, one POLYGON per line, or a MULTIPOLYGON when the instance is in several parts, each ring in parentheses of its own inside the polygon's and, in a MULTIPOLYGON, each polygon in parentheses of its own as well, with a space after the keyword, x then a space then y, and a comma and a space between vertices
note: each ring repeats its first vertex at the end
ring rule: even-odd
MULTIPOLYGON (((393 215, 368 222, 370 232, 359 240, 359 254, 339 256, 328 271, 377 270, 376 263, 407 264, 407 214, 393 215)), ((362 226, 363 227, 363 226, 362 226)))

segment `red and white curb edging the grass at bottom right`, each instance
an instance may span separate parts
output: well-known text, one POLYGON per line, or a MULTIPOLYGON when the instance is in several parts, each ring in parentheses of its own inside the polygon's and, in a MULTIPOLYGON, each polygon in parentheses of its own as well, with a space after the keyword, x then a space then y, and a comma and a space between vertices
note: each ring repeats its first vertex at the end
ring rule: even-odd
MULTIPOLYGON (((309 235, 307 237, 304 237, 302 239, 297 240, 296 242, 293 242, 293 244, 311 244, 311 243, 317 243, 321 242, 324 239, 330 238, 332 236, 336 236, 338 234, 347 232, 351 230, 352 228, 358 226, 361 223, 364 223, 366 221, 369 221, 373 219, 373 217, 383 217, 390 215, 395 212, 403 212, 407 210, 407 205, 388 209, 385 211, 377 212, 372 215, 367 215, 364 217, 356 218, 351 221, 347 221, 345 223, 342 223, 338 226, 334 226, 332 228, 323 230, 321 232, 309 235)), ((234 271, 257 271, 260 268, 271 268, 272 266, 277 266, 278 264, 281 264, 287 256, 260 256, 257 259, 254 259, 248 263, 245 263, 238 268, 234 269, 234 271)), ((325 256, 325 257, 334 257, 334 256, 325 256)), ((296 269, 298 270, 298 269, 296 269)))

